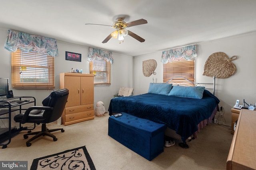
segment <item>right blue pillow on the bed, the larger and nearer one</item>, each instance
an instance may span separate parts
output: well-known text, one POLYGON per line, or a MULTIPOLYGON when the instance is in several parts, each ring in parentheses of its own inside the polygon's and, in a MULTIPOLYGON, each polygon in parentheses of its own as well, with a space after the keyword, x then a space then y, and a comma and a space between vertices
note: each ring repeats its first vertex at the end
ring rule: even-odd
POLYGON ((173 86, 168 96, 202 99, 204 88, 203 86, 173 86))

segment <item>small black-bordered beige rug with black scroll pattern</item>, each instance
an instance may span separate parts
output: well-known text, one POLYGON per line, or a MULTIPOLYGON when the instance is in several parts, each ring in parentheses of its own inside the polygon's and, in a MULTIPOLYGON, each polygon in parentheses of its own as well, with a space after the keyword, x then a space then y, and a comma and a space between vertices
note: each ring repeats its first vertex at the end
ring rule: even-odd
POLYGON ((34 159, 30 170, 96 170, 86 147, 34 159))

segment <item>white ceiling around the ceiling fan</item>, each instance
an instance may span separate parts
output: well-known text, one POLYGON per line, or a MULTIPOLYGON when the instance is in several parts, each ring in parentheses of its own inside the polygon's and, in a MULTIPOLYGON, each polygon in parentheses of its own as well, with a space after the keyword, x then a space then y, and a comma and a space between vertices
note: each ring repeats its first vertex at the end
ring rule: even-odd
MULTIPOLYGON (((130 56, 256 31, 256 0, 1 0, 0 27, 130 56), (111 38, 118 16, 148 21, 128 30, 146 39, 111 38)), ((75 52, 75 51, 74 51, 75 52)))

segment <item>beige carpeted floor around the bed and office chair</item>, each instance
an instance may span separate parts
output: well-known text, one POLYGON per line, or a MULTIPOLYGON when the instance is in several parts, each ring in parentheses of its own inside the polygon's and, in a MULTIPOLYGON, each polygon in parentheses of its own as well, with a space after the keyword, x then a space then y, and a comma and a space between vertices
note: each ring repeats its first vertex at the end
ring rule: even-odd
MULTIPOLYGON (((95 117, 68 126, 50 123, 49 129, 64 128, 54 132, 58 138, 41 137, 26 147, 22 131, 12 138, 6 149, 0 149, 0 160, 28 161, 30 169, 35 158, 86 146, 97 170, 225 170, 233 135, 230 129, 210 123, 198 133, 198 138, 188 142, 189 149, 177 144, 164 148, 164 152, 148 161, 108 136, 108 115, 95 117)), ((39 125, 33 131, 41 129, 39 125)), ((30 138, 30 137, 29 137, 30 138)))

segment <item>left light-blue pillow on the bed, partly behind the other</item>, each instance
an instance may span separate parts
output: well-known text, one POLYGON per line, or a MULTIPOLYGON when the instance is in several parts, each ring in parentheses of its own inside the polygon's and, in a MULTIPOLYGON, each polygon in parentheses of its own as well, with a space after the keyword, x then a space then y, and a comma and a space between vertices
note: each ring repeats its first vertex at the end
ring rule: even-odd
POLYGON ((150 83, 148 88, 148 93, 162 94, 162 95, 168 96, 171 89, 172 89, 172 84, 150 83))

